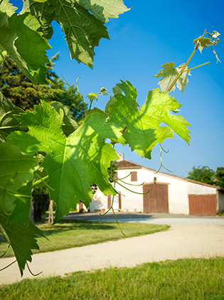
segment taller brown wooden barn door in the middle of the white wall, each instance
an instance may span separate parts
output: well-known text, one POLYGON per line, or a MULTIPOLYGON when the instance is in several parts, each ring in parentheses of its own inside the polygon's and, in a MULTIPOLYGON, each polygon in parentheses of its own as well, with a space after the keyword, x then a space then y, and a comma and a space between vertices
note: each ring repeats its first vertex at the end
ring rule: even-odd
POLYGON ((168 185, 152 183, 143 185, 143 212, 169 212, 168 185))

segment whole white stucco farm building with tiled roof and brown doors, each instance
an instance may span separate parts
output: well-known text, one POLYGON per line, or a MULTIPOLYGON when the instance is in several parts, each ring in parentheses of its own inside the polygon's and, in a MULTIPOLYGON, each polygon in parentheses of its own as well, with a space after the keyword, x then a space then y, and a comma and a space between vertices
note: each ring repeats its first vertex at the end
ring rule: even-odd
MULTIPOLYGON (((122 160, 122 156, 118 162, 117 177, 125 177, 122 181, 127 183, 118 181, 123 187, 119 184, 115 186, 119 195, 114 197, 114 210, 196 215, 224 212, 224 189, 220 187, 164 172, 156 173, 148 167, 122 160)), ((105 211, 111 203, 112 196, 105 196, 98 189, 90 204, 90 211, 105 211)))

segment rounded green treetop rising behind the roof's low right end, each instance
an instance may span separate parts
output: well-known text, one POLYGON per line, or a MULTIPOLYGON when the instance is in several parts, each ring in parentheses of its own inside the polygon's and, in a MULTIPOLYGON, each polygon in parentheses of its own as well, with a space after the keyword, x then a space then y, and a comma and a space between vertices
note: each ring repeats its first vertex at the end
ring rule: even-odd
POLYGON ((190 172, 188 172, 188 179, 196 180, 199 182, 205 182, 209 185, 215 185, 215 171, 210 169, 210 167, 193 167, 190 172))

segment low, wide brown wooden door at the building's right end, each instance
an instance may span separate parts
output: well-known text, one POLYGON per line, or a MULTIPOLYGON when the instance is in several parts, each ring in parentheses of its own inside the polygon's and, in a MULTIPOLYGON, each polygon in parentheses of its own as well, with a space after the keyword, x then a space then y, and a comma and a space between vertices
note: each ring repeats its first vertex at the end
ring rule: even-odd
POLYGON ((188 195, 189 214, 197 216, 215 216, 216 195, 188 195))

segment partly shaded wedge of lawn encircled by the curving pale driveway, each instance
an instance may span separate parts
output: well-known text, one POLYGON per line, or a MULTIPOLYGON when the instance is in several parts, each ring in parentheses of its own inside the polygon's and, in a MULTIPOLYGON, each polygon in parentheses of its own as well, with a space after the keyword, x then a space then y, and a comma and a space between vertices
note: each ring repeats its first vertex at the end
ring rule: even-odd
MULTIPOLYGON (((40 250, 33 250, 33 253, 50 252, 72 247, 81 247, 89 244, 123 239, 126 237, 137 237, 144 234, 169 229, 168 225, 140 224, 140 223, 121 223, 125 237, 119 231, 116 223, 85 222, 64 219, 51 226, 49 224, 39 224, 48 239, 38 237, 40 250)), ((4 236, 0 234, 0 256, 8 246, 4 236)), ((13 251, 9 251, 4 257, 14 256, 13 251)))

